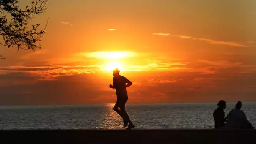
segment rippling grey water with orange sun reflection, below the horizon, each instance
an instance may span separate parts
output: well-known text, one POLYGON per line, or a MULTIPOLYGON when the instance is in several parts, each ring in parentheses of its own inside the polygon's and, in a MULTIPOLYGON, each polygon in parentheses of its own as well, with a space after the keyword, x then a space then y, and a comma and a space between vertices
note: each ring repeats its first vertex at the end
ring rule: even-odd
MULTIPOLYGON (((227 103, 225 115, 235 103, 227 103)), ((215 103, 128 104, 135 128, 213 128, 215 103)), ((243 103, 242 110, 256 126, 256 103, 243 103)), ((122 128, 113 104, 85 106, 2 106, 1 129, 100 129, 122 128)))

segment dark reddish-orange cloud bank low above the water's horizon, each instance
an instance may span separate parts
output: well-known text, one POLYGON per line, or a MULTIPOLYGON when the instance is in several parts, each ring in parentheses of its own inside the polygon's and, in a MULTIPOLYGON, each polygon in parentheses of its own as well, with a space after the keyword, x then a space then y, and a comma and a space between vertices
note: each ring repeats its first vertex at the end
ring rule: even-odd
MULTIPOLYGON (((188 64, 193 64, 190 62, 188 64)), ((201 60, 201 68, 225 65, 236 65, 229 61, 201 60)), ((157 64, 158 66, 160 64, 157 64)), ((151 65, 153 67, 157 65, 151 65)), ((181 65, 173 62, 162 64, 181 65)), ((232 68, 232 67, 229 67, 232 68)), ((83 73, 88 66, 58 66, 44 67, 2 67, 0 71, 0 105, 57 105, 83 103, 114 103, 114 90, 108 88, 112 82, 111 73, 83 73), (78 70, 78 71, 77 71, 78 70), (80 71, 80 72, 79 72, 80 71), (52 76, 52 79, 47 79, 52 76)), ((237 69, 237 68, 235 68, 237 69)), ((226 72, 228 72, 226 70, 226 72)), ((255 76, 234 76, 231 72, 223 74, 205 74, 200 72, 183 71, 147 71, 125 73, 134 82, 127 90, 129 103, 154 102, 205 102, 227 101, 241 98, 256 100, 255 76), (193 72, 193 73, 191 73, 193 72), (223 79, 225 78, 225 79, 223 79), (252 93, 254 91, 254 93, 252 93)))

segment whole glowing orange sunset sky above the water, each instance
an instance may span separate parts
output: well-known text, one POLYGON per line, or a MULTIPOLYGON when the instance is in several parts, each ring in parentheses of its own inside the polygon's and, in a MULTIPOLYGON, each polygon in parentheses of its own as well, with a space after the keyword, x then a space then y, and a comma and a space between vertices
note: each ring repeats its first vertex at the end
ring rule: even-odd
MULTIPOLYGON (((25 7, 30 0, 22 0, 25 7)), ((50 0, 42 49, 0 46, 0 105, 256 100, 256 0, 50 0)))

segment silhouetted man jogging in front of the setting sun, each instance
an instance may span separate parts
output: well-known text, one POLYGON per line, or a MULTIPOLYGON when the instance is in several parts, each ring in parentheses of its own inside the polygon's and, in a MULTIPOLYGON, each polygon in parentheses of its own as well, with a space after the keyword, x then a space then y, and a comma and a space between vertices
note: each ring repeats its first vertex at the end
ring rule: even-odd
POLYGON ((119 72, 118 68, 113 70, 113 85, 109 85, 110 88, 116 89, 117 101, 113 109, 123 118, 124 128, 129 124, 127 129, 132 129, 134 125, 125 111, 125 103, 128 100, 126 88, 131 86, 132 82, 126 77, 119 75, 119 72), (120 108, 120 110, 118 108, 120 108))

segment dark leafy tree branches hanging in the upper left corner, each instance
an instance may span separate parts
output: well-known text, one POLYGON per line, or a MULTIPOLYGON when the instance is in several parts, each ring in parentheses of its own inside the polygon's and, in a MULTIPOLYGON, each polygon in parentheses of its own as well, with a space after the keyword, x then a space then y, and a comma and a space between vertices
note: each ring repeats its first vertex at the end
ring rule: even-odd
MULTIPOLYGON (((29 25, 34 15, 43 14, 48 0, 33 0, 31 6, 26 6, 23 10, 17 6, 19 0, 0 0, 0 35, 4 43, 0 45, 14 47, 18 49, 41 48, 40 41, 45 33, 45 28, 39 30, 40 24, 29 25)), ((3 59, 0 56, 0 59, 3 59)))

